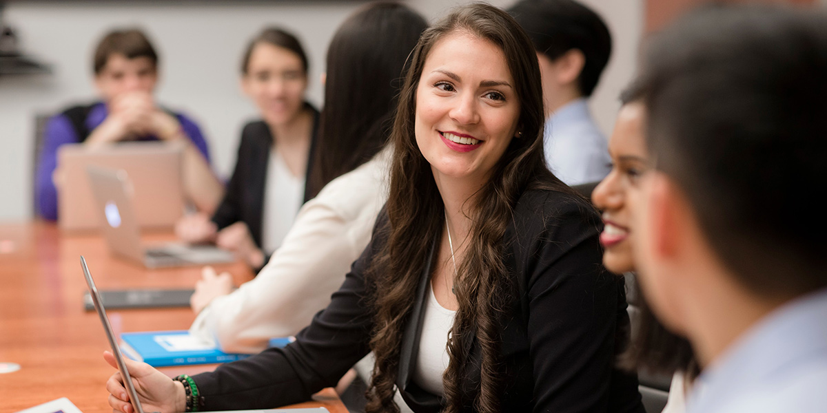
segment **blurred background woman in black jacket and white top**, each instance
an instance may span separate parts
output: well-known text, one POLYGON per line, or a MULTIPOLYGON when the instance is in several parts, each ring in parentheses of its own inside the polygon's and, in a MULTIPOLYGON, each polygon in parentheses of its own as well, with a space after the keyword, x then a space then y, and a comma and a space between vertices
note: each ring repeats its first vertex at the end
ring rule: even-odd
POLYGON ((247 46, 241 85, 261 111, 241 132, 236 168, 212 217, 185 216, 176 233, 215 242, 261 268, 307 201, 307 176, 318 111, 304 102, 308 61, 295 36, 267 28, 247 46))

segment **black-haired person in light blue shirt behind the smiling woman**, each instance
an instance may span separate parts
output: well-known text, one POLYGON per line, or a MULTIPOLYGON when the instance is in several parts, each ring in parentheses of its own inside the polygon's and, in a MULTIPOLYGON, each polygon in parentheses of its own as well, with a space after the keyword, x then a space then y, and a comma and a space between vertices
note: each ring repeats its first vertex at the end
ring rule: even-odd
POLYGON ((609 173, 606 138, 591 118, 595 91, 612 51, 603 19, 574 0, 522 0, 509 8, 531 38, 543 75, 548 168, 568 185, 609 173))

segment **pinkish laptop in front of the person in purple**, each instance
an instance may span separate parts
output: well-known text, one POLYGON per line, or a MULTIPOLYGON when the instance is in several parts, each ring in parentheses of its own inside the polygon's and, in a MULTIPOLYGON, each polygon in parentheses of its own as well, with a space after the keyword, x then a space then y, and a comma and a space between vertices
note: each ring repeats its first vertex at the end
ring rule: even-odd
POLYGON ((86 169, 89 165, 123 169, 132 178, 135 211, 142 228, 171 228, 184 214, 181 179, 184 146, 166 142, 123 142, 88 149, 61 145, 58 165, 58 225, 61 230, 98 230, 100 221, 86 169))

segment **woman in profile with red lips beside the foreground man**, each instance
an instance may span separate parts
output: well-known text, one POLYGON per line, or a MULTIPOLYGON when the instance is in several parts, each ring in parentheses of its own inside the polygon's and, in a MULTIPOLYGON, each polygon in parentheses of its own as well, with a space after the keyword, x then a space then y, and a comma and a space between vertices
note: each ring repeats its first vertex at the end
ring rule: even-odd
MULTIPOLYGON (((640 207, 640 184, 652 169, 653 159, 646 148, 646 106, 643 90, 633 83, 620 97, 622 106, 609 138, 612 169, 592 192, 595 206, 602 211, 603 264, 609 271, 623 274, 635 271, 632 254, 634 209, 640 207)), ((624 354, 630 369, 672 375, 667 406, 663 413, 682 413, 686 407, 686 389, 697 377, 699 367, 691 344, 667 330, 654 316, 637 282, 630 303, 636 306, 632 341, 624 354)))

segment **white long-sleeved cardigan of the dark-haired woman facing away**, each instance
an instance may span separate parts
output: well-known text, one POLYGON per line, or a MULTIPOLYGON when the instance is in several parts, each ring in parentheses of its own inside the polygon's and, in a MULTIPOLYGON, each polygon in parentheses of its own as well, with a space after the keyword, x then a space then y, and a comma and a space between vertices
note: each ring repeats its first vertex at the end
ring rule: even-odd
POLYGON ((258 353, 294 335, 330 302, 370 241, 387 200, 390 148, 328 183, 304 204, 270 262, 249 282, 198 314, 190 333, 231 353, 258 353))

